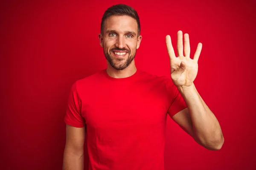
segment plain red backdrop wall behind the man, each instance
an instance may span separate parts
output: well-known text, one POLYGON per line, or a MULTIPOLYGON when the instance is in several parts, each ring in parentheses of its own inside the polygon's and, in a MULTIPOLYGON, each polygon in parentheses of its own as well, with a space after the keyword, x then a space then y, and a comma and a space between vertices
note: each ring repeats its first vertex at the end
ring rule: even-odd
POLYGON ((225 143, 206 150, 168 118, 166 170, 254 169, 256 3, 249 0, 2 1, 0 169, 61 170, 68 92, 106 68, 98 33, 104 11, 117 3, 140 16, 135 61, 144 71, 170 75, 167 34, 176 48, 177 31, 188 33, 192 55, 203 44, 195 85, 225 143))

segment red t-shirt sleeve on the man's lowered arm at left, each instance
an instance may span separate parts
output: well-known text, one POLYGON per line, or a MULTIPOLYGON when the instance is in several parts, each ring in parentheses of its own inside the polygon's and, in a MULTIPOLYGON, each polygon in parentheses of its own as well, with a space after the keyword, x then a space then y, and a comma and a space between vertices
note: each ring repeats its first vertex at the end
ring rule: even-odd
POLYGON ((76 83, 72 85, 68 100, 64 122, 74 127, 84 127, 84 118, 81 115, 81 99, 76 90, 76 83))

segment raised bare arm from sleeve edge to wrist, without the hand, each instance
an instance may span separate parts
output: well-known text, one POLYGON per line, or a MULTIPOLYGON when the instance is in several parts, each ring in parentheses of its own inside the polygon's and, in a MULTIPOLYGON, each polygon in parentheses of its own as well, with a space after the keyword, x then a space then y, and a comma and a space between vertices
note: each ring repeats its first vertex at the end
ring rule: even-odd
POLYGON ((199 95, 195 85, 178 89, 188 108, 175 114, 172 119, 198 144, 209 150, 221 149, 224 137, 219 122, 199 95))

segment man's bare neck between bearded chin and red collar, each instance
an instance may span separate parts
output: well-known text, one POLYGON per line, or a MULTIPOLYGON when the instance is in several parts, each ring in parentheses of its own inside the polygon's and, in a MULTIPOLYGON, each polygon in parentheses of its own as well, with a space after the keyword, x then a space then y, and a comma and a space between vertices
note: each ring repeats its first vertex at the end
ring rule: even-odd
POLYGON ((131 64, 124 70, 116 70, 108 62, 107 73, 110 77, 113 78, 126 78, 132 76, 137 71, 134 60, 131 64))

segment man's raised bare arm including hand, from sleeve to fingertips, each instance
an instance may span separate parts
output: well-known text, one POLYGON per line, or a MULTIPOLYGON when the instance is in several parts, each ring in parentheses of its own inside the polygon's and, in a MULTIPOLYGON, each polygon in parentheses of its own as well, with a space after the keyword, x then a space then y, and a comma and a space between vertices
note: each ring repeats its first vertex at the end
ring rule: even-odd
POLYGON ((174 121, 202 146, 209 150, 219 150, 224 143, 221 127, 193 83, 198 73, 202 43, 198 43, 193 59, 190 58, 189 34, 184 34, 183 48, 183 33, 182 31, 177 33, 178 57, 175 56, 169 35, 166 36, 166 47, 170 57, 172 81, 188 107, 174 115, 174 121))

